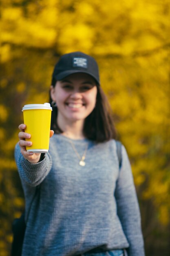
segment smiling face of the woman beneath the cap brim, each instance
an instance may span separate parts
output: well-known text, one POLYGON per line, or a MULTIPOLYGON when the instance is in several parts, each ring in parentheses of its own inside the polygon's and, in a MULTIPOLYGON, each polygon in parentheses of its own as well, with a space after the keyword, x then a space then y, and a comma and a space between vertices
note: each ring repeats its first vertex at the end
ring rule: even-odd
POLYGON ((57 103, 57 123, 67 124, 82 121, 95 108, 97 85, 92 76, 84 73, 71 74, 55 87, 51 87, 51 98, 57 103))

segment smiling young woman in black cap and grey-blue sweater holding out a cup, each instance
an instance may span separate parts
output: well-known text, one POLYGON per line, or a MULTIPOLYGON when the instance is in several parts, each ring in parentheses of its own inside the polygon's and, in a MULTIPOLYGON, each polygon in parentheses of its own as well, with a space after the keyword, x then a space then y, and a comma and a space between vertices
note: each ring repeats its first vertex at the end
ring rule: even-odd
POLYGON ((26 202, 23 256, 144 256, 137 195, 100 87, 94 58, 64 54, 55 65, 49 152, 15 148, 26 202))

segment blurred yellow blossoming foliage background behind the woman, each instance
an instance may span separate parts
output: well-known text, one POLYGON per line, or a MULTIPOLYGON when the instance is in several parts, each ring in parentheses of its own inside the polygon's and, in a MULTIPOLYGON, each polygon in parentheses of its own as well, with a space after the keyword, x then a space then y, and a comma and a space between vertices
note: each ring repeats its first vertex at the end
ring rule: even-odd
POLYGON ((170 255, 170 1, 1 0, 0 256, 24 209, 14 162, 22 106, 48 102, 53 65, 82 51, 99 63, 139 199, 146 256, 170 255))

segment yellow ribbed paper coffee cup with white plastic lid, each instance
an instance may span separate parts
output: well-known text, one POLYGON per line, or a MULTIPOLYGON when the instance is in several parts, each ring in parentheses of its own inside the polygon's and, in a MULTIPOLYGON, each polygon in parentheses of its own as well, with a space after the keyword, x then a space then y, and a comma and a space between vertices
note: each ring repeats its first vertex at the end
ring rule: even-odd
POLYGON ((45 153, 49 151, 51 111, 50 103, 29 104, 22 108, 25 132, 31 134, 32 146, 26 146, 27 152, 45 153))

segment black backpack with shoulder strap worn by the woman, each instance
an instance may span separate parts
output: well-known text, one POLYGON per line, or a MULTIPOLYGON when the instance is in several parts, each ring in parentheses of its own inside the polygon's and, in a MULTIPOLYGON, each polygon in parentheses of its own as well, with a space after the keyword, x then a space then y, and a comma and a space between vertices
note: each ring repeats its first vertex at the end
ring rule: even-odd
MULTIPOLYGON (((117 147, 117 157, 119 159, 119 168, 121 167, 121 142, 116 141, 116 147, 117 147)), ((38 187, 37 187, 38 189, 38 187)), ((35 191, 34 197, 37 193, 37 189, 35 191)), ((33 200, 32 200, 33 202, 33 200)), ((31 204, 32 204, 31 202, 31 204)), ((30 206, 31 208, 31 206, 30 206)), ((26 223, 24 220, 25 213, 22 213, 21 217, 18 219, 15 219, 13 221, 12 225, 12 231, 13 231, 13 242, 12 242, 12 249, 11 249, 11 256, 21 256, 22 255, 22 245, 24 241, 24 234, 26 229, 26 223)))

